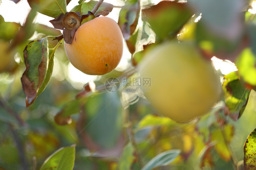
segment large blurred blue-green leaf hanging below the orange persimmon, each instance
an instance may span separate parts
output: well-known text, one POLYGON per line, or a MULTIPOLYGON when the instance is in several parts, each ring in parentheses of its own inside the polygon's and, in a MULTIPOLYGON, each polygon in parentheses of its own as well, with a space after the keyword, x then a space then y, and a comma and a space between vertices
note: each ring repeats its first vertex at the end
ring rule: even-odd
POLYGON ((104 92, 88 98, 81 135, 90 136, 103 149, 116 146, 122 130, 122 105, 118 93, 104 92))

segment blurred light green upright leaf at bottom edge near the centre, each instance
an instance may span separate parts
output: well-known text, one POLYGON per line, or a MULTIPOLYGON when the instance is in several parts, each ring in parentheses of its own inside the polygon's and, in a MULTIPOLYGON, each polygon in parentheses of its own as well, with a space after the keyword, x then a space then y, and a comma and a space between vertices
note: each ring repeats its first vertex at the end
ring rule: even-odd
POLYGON ((122 169, 122 170, 130 170, 131 169, 132 162, 135 159, 133 153, 134 153, 134 148, 131 143, 128 143, 124 147, 123 153, 118 162, 119 169, 122 169))

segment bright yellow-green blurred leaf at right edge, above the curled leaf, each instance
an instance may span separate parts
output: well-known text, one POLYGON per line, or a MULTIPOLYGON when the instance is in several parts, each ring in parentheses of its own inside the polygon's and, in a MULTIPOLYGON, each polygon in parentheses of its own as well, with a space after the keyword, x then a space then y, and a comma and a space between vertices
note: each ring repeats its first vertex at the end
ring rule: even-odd
POLYGON ((256 57, 250 48, 243 50, 235 62, 243 80, 250 85, 256 85, 256 57))

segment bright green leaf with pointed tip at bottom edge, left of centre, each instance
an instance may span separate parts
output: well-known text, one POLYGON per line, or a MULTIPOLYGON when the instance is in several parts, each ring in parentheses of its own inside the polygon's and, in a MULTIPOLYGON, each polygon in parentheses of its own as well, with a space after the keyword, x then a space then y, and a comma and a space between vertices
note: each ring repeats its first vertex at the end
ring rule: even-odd
POLYGON ((75 145, 62 147, 49 156, 40 170, 72 170, 75 162, 75 145))

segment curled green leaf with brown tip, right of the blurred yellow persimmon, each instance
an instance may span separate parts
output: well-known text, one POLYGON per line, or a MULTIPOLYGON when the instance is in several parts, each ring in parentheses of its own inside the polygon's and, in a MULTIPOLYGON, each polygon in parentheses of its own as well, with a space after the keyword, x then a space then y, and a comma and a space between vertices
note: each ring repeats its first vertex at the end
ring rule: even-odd
POLYGON ((243 86, 235 73, 232 72, 224 77, 226 81, 223 83, 223 88, 226 95, 227 114, 236 121, 243 114, 251 90, 243 86))

